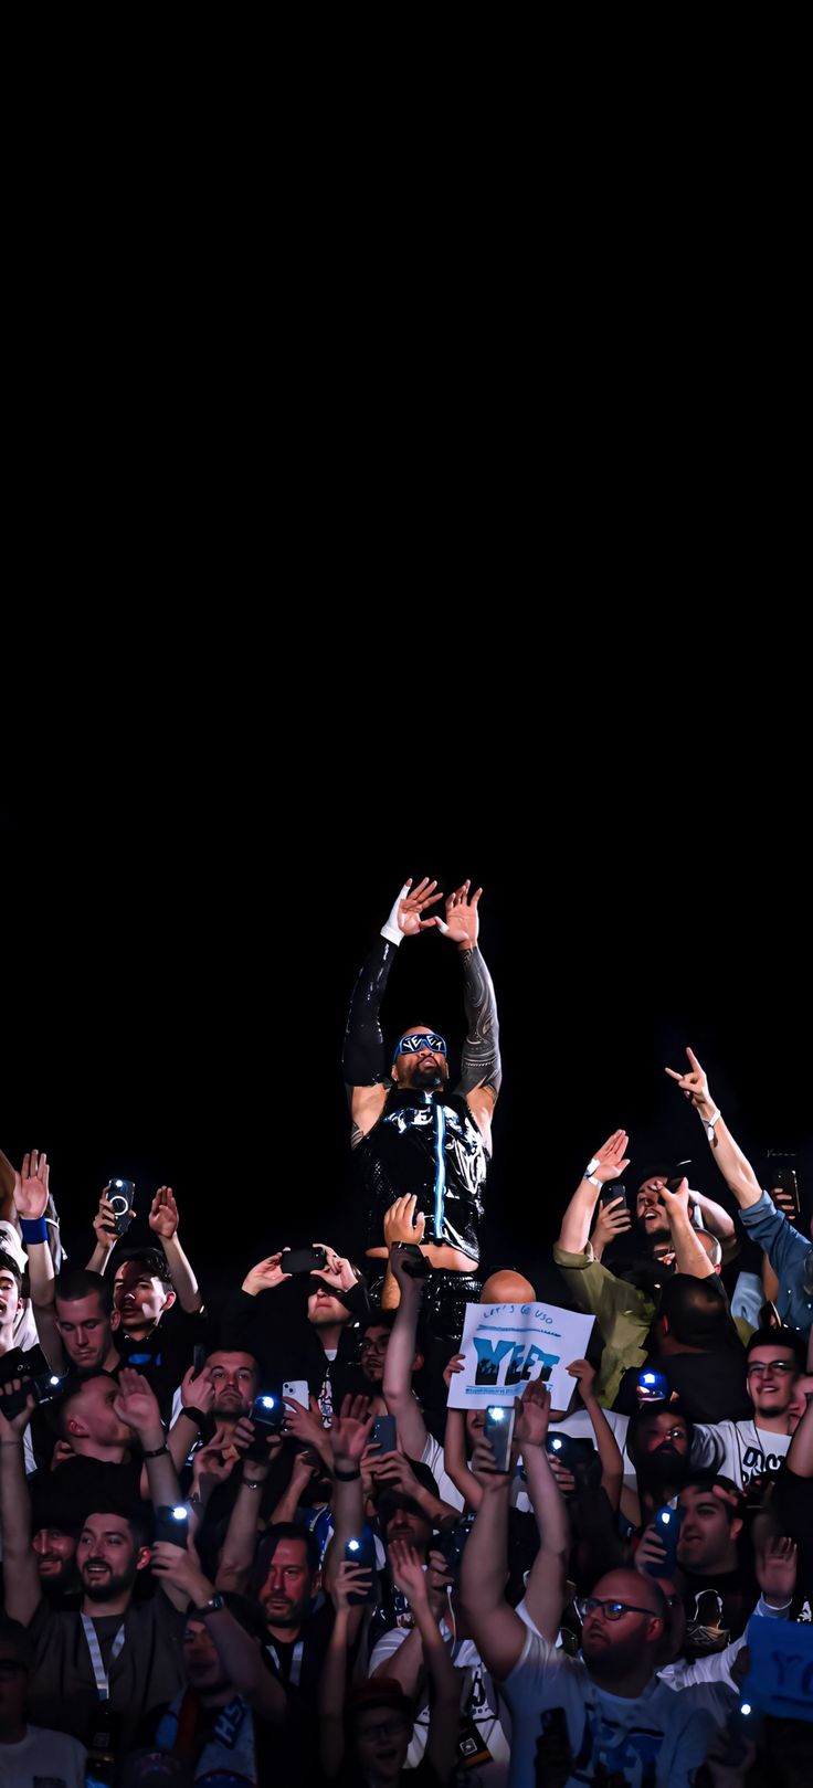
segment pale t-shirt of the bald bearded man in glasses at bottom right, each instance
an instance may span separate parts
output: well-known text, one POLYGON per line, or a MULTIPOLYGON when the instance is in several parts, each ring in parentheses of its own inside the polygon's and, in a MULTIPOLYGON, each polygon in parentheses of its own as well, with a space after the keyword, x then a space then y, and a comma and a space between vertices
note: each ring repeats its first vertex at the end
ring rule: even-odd
POLYGON ((506 1677, 502 1693, 511 1709, 513 1743, 509 1788, 536 1788, 536 1745, 541 1715, 563 1708, 577 1774, 566 1788, 593 1781, 595 1770, 622 1775, 627 1788, 690 1788, 718 1731, 718 1702, 702 1684, 679 1695, 658 1677, 627 1700, 593 1683, 581 1657, 556 1650, 529 1632, 522 1657, 506 1677))

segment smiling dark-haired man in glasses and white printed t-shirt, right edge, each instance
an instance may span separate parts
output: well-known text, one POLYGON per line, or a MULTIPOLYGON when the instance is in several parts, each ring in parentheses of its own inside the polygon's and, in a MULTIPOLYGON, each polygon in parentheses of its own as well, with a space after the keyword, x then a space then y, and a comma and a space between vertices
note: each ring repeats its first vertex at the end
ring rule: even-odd
POLYGON ((693 1470, 713 1468, 738 1489, 779 1472, 793 1430, 793 1393, 804 1371, 795 1328, 756 1328, 745 1348, 745 1384, 754 1414, 747 1421, 695 1423, 693 1470))

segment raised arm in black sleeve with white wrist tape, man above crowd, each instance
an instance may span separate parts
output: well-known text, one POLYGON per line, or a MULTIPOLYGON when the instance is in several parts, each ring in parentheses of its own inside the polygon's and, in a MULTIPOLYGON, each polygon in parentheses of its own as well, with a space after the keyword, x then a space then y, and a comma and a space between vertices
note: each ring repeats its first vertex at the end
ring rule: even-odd
POLYGON ((390 919, 381 928, 381 935, 375 939, 352 991, 345 1048, 341 1051, 341 1071, 350 1100, 352 1148, 379 1121, 390 1087, 390 1064, 386 1060, 379 1010, 395 951, 404 942, 404 937, 416 937, 420 932, 429 932, 434 926, 434 919, 422 919, 422 912, 440 899, 440 894, 432 894, 436 885, 427 876, 423 876, 423 881, 418 881, 415 890, 411 880, 404 883, 390 919))

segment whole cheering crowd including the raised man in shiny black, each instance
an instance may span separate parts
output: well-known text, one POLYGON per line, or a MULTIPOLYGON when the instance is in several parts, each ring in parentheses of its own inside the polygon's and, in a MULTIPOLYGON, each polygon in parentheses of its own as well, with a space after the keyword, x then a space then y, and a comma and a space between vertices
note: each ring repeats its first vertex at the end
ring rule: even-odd
POLYGON ((281 1236, 209 1307, 172 1187, 134 1246, 107 1185, 79 1266, 45 1153, 0 1157, 0 1788, 813 1779, 795 1189, 759 1185, 688 1050, 668 1073, 718 1198, 668 1155, 629 1171, 624 1130, 595 1148, 554 1246, 586 1357, 566 1407, 547 1371, 516 1386, 500 1452, 452 1395, 466 1311, 536 1287, 481 1257, 497 999, 481 890, 441 899, 404 885, 350 1001, 363 1264, 281 1236), (454 1089, 443 1035, 381 1025, 431 928, 459 958, 454 1089), (808 1706, 752 1690, 770 1624, 808 1706))

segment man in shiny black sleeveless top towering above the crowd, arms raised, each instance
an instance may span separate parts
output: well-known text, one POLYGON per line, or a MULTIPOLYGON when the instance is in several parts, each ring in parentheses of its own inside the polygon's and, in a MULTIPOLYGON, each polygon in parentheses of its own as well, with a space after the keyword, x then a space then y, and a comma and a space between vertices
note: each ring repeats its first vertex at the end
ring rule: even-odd
MULTIPOLYGON (((350 1141, 366 1193, 366 1253, 386 1261, 390 1243, 416 1243, 432 1268, 429 1321, 436 1334, 454 1337, 465 1305, 481 1291, 482 1193, 502 1078, 495 992, 477 948, 482 889, 470 894, 470 887, 463 881, 438 919, 425 917, 441 899, 436 881, 404 883, 357 978, 343 1050, 350 1141), (457 946, 463 971, 468 1032, 454 1091, 440 1032, 413 1025, 388 1062, 379 1019, 397 948, 432 928, 457 946)), ((398 1302, 390 1275, 382 1302, 398 1302)))

